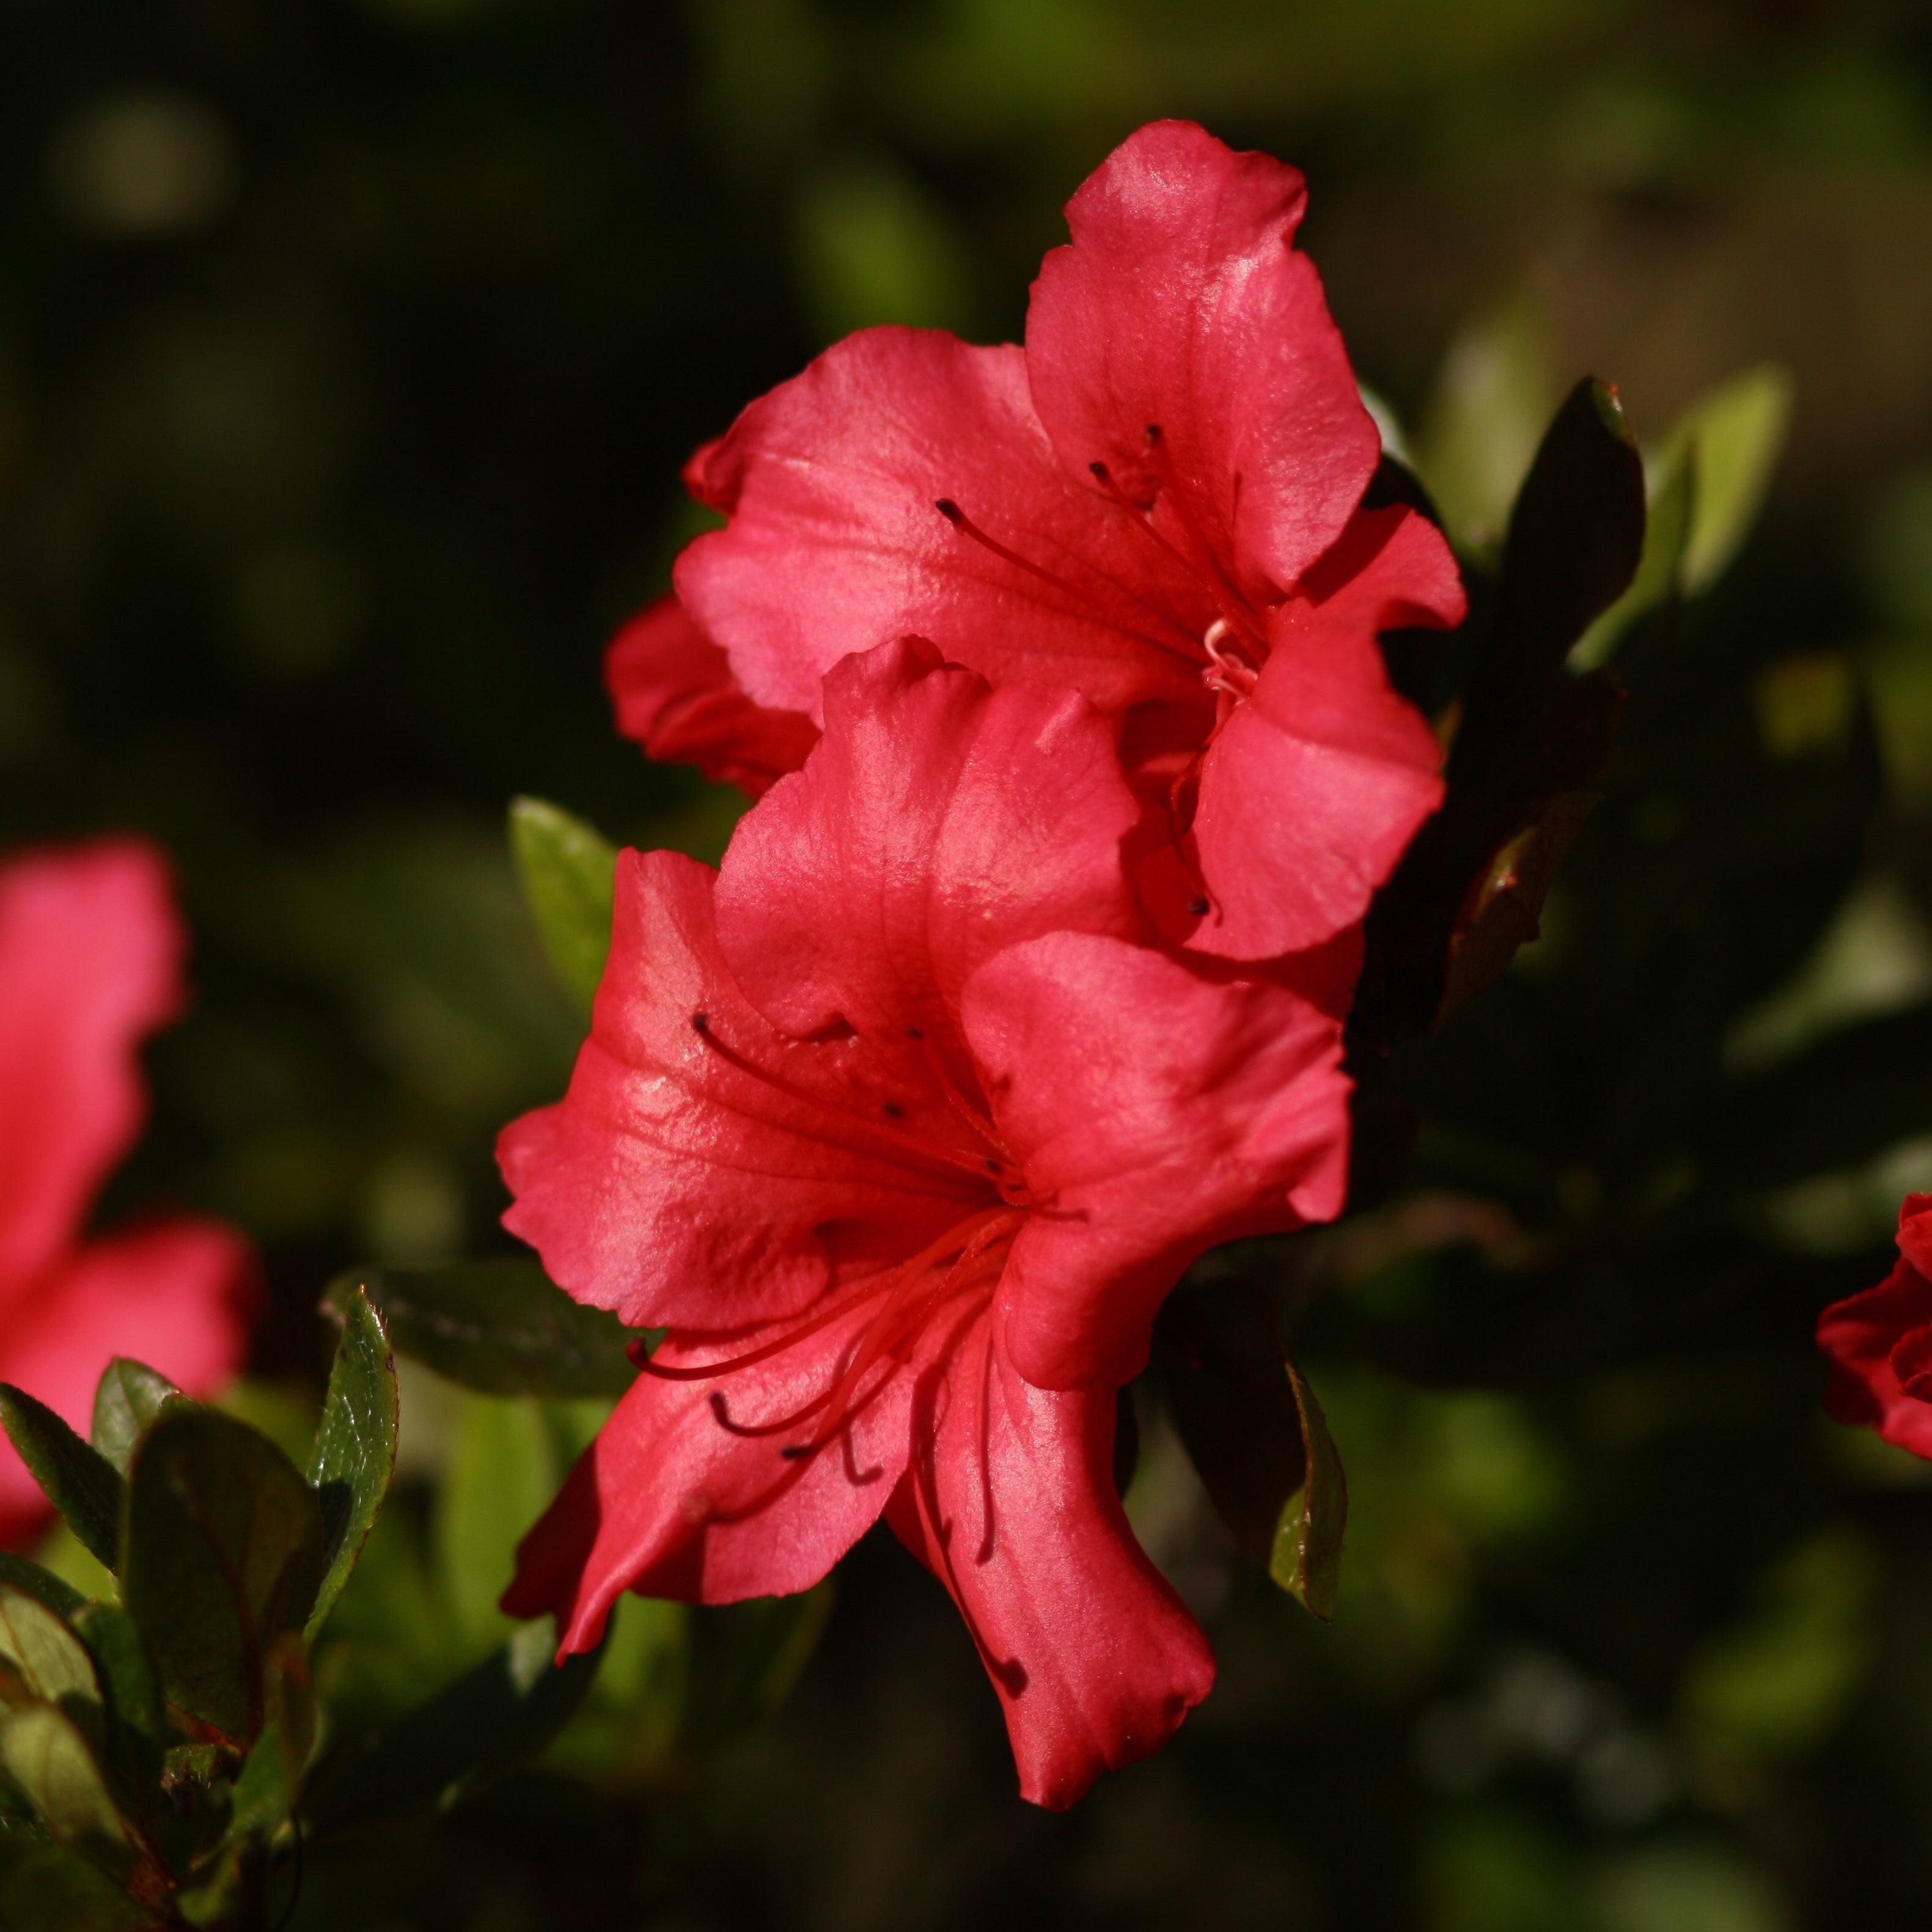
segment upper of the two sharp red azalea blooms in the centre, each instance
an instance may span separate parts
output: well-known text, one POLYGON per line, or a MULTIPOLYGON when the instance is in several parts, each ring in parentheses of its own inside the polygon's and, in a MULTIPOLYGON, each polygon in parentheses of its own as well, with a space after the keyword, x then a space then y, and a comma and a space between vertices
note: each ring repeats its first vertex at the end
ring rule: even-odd
POLYGON ((686 475, 726 512, 684 607, 759 705, 916 632, 1122 717, 1173 860, 1163 925, 1223 958, 1356 923, 1441 798, 1376 634, 1455 624, 1439 531, 1364 508, 1379 440, 1306 255, 1302 176, 1188 122, 1074 195, 1026 348, 871 328, 686 475))

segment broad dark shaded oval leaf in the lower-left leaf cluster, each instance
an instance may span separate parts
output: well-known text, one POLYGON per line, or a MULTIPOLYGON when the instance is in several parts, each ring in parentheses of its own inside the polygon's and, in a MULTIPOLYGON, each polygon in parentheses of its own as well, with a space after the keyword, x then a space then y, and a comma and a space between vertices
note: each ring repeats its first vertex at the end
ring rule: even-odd
POLYGON ((321 1580, 321 1511, 288 1457, 218 1410, 162 1412, 128 1478, 122 1588, 168 1700, 253 1739, 263 1662, 321 1580))

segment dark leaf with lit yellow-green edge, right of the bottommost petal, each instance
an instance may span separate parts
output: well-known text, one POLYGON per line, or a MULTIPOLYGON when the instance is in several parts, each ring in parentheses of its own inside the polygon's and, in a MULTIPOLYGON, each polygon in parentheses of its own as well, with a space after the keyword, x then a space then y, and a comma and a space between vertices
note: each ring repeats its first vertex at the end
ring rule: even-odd
POLYGON ((1221 1520, 1325 1623, 1349 1490, 1321 1406, 1281 1347, 1265 1291, 1240 1281, 1182 1283, 1153 1337, 1169 1412, 1221 1520))

